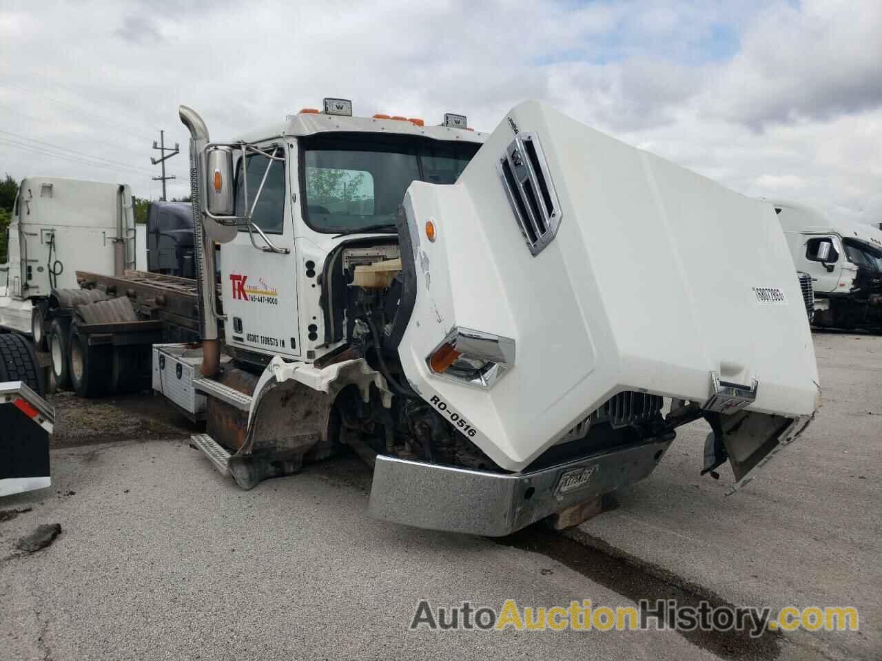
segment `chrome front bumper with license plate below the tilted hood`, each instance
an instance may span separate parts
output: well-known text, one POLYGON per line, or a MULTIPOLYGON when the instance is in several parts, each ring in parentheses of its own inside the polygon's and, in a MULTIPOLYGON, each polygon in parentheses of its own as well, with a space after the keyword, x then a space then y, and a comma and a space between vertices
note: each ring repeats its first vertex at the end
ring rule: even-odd
POLYGON ((502 537, 646 478, 672 440, 607 450, 521 473, 472 471, 379 455, 368 513, 417 528, 502 537))

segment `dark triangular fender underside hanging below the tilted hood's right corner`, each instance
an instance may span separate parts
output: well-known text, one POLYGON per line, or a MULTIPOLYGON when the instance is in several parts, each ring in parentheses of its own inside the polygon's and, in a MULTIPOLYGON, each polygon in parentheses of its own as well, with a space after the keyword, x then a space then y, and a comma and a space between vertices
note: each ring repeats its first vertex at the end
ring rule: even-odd
POLYGON ((721 415, 722 444, 737 480, 735 489, 750 482, 756 469, 796 440, 808 422, 809 419, 749 411, 721 415))

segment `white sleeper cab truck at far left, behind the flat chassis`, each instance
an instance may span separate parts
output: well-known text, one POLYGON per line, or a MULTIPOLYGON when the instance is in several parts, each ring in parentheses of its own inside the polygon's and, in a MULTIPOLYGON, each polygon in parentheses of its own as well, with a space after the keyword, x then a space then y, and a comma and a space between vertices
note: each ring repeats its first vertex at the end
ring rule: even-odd
MULTIPOLYGON (((126 184, 27 177, 19 186, 0 264, 0 327, 34 338, 54 356, 52 375, 68 382, 63 360, 70 311, 53 310, 53 296, 78 289, 77 271, 121 275, 136 268, 138 248, 131 189, 126 184)), ((146 252, 145 252, 146 254, 146 252)))

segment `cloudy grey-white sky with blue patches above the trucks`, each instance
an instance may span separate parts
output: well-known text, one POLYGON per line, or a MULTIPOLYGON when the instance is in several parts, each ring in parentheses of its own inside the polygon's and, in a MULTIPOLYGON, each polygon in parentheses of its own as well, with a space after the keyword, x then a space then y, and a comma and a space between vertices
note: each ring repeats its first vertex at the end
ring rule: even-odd
MULTIPOLYGON (((217 139, 324 96, 492 130, 545 100, 751 196, 882 222, 882 2, 0 4, 0 174, 159 197, 177 105, 217 139)), ((189 189, 186 154, 168 197, 189 189)))

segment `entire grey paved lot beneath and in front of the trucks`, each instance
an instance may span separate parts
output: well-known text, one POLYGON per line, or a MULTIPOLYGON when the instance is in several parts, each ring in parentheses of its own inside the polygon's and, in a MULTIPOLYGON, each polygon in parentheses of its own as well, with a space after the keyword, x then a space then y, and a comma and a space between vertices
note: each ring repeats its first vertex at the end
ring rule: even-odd
POLYGON ((53 487, 0 501, 0 659, 879 658, 882 338, 815 344, 823 408, 762 478, 724 496, 731 474, 699 478, 705 431, 687 427, 618 509, 570 538, 373 521, 370 474, 352 458, 243 492, 188 447, 161 400, 56 396, 53 487), (17 549, 41 524, 62 532, 17 549), (615 606, 644 595, 856 605, 862 626, 759 642, 407 630, 422 598, 615 606))

